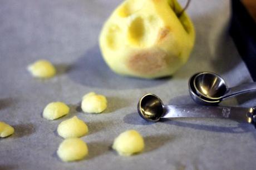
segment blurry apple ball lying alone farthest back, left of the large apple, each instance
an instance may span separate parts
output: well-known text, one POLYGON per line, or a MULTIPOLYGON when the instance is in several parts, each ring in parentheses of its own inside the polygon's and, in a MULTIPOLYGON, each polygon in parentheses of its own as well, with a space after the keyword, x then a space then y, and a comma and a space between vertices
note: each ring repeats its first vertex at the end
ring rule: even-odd
POLYGON ((27 69, 32 74, 32 76, 38 78, 50 78, 56 74, 55 67, 46 59, 40 59, 35 63, 30 64, 27 69))

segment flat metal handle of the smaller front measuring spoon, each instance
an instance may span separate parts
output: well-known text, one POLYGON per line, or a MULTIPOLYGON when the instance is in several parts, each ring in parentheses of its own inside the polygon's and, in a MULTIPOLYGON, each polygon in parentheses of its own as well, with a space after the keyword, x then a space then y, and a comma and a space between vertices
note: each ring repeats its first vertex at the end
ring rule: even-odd
POLYGON ((254 111, 252 111, 252 108, 164 105, 164 114, 161 118, 207 117, 225 118, 238 122, 252 123, 252 121, 250 121, 250 117, 247 114, 250 112, 254 116, 254 111))

